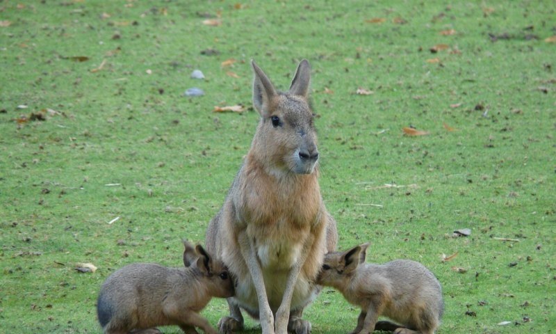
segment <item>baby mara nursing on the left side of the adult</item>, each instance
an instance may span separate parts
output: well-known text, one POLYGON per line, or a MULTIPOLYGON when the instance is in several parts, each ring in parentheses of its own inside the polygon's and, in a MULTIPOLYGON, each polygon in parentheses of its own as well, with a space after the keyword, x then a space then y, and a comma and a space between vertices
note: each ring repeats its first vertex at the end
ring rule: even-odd
POLYGON ((178 325, 186 334, 197 334, 195 327, 217 334, 199 312, 213 296, 233 296, 234 282, 202 246, 183 244, 185 268, 136 263, 106 279, 97 301, 105 334, 160 333, 154 327, 166 325, 178 325))

